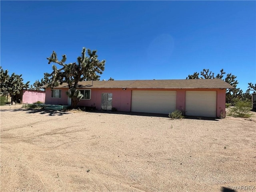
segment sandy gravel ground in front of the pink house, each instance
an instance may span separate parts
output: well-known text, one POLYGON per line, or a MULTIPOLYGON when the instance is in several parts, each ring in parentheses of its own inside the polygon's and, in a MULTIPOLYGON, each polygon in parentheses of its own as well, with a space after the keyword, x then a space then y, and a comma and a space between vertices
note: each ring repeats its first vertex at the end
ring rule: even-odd
POLYGON ((256 191, 255 117, 170 120, 1 106, 0 190, 256 191))

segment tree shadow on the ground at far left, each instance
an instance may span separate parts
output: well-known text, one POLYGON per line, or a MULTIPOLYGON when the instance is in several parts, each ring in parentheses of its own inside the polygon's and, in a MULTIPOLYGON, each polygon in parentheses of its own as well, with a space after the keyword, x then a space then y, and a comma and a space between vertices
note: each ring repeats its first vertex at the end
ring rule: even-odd
POLYGON ((26 112, 27 114, 42 114, 42 115, 48 115, 48 116, 61 116, 65 114, 71 114, 67 111, 55 111, 55 110, 46 110, 46 109, 25 109, 25 108, 10 108, 10 109, 4 109, 0 110, 1 112, 10 111, 10 112, 26 112))

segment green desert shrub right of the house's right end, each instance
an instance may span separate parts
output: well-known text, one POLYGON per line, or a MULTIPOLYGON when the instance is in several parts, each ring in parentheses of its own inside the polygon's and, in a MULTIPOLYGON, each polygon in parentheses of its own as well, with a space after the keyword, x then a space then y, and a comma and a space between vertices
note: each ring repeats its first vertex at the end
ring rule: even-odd
POLYGON ((250 101, 236 100, 234 107, 230 109, 229 115, 234 117, 250 118, 252 103, 250 101))

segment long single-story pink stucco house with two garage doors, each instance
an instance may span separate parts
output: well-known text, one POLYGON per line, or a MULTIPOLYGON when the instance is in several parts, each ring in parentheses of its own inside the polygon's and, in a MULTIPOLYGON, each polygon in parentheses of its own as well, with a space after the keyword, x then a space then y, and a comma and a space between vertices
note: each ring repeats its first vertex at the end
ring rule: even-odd
MULTIPOLYGON (((82 81, 79 106, 98 110, 168 114, 175 109, 188 116, 225 117, 226 88, 221 79, 82 81)), ((46 89, 46 104, 71 104, 67 84, 46 89)))

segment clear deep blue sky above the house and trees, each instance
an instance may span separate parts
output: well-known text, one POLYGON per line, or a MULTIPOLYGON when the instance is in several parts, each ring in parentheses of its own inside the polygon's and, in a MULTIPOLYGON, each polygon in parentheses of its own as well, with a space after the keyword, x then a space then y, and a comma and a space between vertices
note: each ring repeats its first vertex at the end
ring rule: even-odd
POLYGON ((33 84, 49 57, 105 59, 100 80, 185 79, 204 68, 256 82, 256 1, 0 1, 1 66, 33 84))

